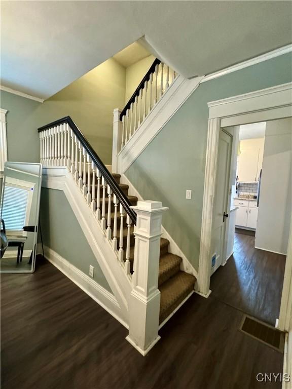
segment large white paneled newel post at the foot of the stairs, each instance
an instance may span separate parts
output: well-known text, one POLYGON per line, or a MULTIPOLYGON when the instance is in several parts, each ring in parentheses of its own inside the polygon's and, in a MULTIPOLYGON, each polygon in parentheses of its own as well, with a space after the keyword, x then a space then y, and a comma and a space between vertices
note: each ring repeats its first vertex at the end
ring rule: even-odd
POLYGON ((158 271, 162 207, 158 201, 138 201, 131 207, 137 214, 133 289, 129 301, 129 335, 126 339, 146 355, 160 339, 158 271))

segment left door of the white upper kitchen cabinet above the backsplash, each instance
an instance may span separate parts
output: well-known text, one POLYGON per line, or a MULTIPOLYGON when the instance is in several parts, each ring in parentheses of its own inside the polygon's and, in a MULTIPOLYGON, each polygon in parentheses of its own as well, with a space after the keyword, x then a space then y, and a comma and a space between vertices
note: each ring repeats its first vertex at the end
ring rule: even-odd
POLYGON ((259 148, 245 148, 240 151, 238 181, 256 182, 258 179, 259 148))

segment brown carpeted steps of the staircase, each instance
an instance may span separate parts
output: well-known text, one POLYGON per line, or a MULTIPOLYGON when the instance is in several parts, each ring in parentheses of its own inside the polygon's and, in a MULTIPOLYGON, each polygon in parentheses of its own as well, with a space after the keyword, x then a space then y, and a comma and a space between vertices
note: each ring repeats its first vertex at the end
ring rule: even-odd
MULTIPOLYGON (((128 196, 129 186, 120 184, 120 174, 113 173, 113 178, 119 184, 122 191, 127 196, 132 205, 137 204, 135 196, 128 196)), ((114 213, 111 214, 112 222, 114 222, 114 213)), ((124 238, 127 237, 127 229, 124 229, 124 238)), ((130 271, 133 273, 134 262, 134 228, 130 234, 130 271)), ((169 241, 161 238, 160 240, 160 257, 159 257, 159 275, 158 289, 160 290, 160 312, 159 323, 163 323, 165 319, 175 310, 175 308, 194 290, 196 279, 194 276, 180 270, 182 259, 168 252, 169 241)), ((126 260, 126 254, 124 254, 126 260)))

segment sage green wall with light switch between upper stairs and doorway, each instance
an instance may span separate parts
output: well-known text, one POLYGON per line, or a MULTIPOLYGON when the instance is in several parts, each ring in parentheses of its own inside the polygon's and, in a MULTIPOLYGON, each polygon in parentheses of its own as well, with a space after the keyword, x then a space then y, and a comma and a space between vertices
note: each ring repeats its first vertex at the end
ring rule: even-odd
POLYGON ((145 200, 169 207, 163 226, 199 266, 209 101, 290 82, 292 58, 277 58, 203 83, 126 171, 145 200), (186 189, 192 200, 186 200, 186 189))

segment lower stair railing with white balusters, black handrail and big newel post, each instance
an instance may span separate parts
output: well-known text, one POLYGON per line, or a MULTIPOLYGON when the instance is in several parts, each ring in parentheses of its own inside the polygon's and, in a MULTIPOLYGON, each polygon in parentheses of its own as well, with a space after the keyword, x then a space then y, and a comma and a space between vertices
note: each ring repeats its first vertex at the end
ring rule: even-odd
POLYGON ((69 116, 39 128, 39 133, 41 163, 45 167, 65 166, 70 171, 130 282, 127 339, 145 355, 159 340, 159 248, 161 215, 167 208, 152 201, 132 206, 69 116))

